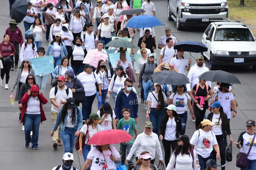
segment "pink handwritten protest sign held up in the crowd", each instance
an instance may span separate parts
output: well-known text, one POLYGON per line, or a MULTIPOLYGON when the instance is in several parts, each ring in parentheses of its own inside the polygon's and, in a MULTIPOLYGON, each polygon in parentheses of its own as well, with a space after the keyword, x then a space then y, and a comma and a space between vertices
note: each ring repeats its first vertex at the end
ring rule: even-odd
POLYGON ((97 68, 99 60, 108 60, 108 55, 100 51, 89 50, 83 61, 84 64, 91 64, 93 67, 97 68))

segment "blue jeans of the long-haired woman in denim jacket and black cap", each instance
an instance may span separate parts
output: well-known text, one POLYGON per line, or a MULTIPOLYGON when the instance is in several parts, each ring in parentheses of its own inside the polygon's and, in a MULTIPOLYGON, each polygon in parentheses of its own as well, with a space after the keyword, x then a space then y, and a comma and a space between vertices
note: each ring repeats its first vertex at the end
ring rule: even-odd
POLYGON ((75 140, 77 138, 75 136, 75 132, 75 129, 71 127, 65 127, 64 131, 61 129, 61 139, 64 144, 64 153, 73 153, 75 140))

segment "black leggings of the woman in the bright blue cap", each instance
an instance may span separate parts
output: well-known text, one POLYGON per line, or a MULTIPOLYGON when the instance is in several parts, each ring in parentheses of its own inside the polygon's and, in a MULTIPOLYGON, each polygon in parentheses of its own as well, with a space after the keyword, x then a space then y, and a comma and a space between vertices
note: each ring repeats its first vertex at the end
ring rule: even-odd
MULTIPOLYGON (((223 140, 223 135, 215 135, 217 142, 219 144, 220 148, 220 165, 221 165, 221 170, 225 170, 225 164, 226 164, 226 147, 227 147, 227 138, 223 140)), ((213 158, 216 161, 216 151, 213 149, 212 151, 213 158)))

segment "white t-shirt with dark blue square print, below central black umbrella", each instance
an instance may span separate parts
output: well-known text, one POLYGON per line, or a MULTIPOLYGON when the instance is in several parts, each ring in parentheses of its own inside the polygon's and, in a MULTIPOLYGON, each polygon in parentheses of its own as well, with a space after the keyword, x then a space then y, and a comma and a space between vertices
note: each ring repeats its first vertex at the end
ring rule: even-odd
POLYGON ((183 95, 178 95, 178 93, 172 93, 170 99, 173 99, 172 104, 176 106, 176 112, 178 114, 182 114, 188 110, 188 99, 191 99, 188 93, 183 93, 183 95))

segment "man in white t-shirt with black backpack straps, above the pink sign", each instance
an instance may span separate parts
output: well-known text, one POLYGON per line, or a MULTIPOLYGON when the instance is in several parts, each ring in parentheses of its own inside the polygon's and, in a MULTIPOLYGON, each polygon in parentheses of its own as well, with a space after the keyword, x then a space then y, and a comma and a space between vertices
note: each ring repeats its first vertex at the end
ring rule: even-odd
POLYGON ((92 32, 92 30, 93 30, 93 25, 87 24, 86 33, 81 37, 83 41, 83 46, 85 46, 87 51, 95 49, 95 46, 98 42, 98 37, 96 36, 96 34, 92 32))

